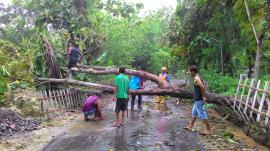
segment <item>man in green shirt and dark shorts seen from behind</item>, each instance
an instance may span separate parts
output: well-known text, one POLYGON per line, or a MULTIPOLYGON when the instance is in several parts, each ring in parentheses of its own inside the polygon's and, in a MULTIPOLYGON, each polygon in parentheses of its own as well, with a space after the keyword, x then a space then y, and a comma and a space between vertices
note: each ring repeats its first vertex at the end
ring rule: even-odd
POLYGON ((113 126, 120 127, 124 125, 125 113, 128 107, 128 98, 129 98, 129 79, 126 76, 125 68, 119 67, 119 75, 116 76, 114 85, 116 87, 114 91, 113 100, 116 101, 115 113, 116 113, 116 123, 113 126), (121 115, 120 115, 121 112, 121 115), (120 117, 122 117, 120 119, 120 117))

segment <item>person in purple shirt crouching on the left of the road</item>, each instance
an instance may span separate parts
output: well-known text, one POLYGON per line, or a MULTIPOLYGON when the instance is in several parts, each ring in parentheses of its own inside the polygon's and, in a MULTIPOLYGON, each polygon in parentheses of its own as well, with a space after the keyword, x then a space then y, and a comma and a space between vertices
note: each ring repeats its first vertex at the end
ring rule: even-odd
POLYGON ((86 100, 83 103, 82 112, 84 114, 84 120, 89 121, 89 115, 95 113, 94 120, 102 120, 103 113, 102 113, 102 104, 100 101, 101 94, 96 93, 95 95, 91 96, 88 95, 86 100))

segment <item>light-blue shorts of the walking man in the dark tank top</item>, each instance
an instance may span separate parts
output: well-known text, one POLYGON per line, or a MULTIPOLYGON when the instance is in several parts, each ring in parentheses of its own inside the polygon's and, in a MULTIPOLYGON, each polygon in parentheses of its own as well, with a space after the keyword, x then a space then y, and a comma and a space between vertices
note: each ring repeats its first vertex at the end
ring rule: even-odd
POLYGON ((203 101, 194 101, 194 105, 192 109, 192 117, 198 117, 201 120, 208 119, 203 101))

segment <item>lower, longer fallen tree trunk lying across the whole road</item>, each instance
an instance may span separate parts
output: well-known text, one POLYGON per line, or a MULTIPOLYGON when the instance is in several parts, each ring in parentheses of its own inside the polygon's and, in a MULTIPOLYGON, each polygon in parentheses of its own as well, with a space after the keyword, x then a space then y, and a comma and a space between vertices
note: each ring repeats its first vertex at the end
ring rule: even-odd
MULTIPOLYGON (((86 86, 91 88, 100 89, 109 93, 113 93, 115 87, 109 85, 102 85, 90 82, 83 82, 73 79, 53 79, 53 78, 38 78, 39 81, 47 81, 53 83, 65 83, 65 84, 73 84, 73 85, 80 85, 86 86)), ((193 98, 193 91, 184 88, 150 88, 150 89, 141 89, 137 91, 130 91, 130 94, 142 94, 142 95, 162 95, 162 96, 172 96, 178 98, 185 98, 185 99, 192 99, 193 98)), ((227 96, 220 96, 213 93, 207 93, 206 95, 209 103, 216 103, 220 105, 230 105, 233 103, 231 97, 227 96)))

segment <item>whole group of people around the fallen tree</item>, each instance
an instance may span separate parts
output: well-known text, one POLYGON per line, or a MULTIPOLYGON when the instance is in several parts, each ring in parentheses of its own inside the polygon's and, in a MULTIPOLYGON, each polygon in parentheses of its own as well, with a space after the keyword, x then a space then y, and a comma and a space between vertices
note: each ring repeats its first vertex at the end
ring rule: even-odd
MULTIPOLYGON (((79 55, 82 57, 82 54, 75 45, 71 44, 68 48, 69 55, 69 74, 70 69, 74 66, 77 66, 79 55)), ((129 77, 125 75, 125 68, 119 67, 119 74, 116 76, 114 85, 114 95, 113 101, 116 101, 115 105, 115 113, 116 113, 116 122, 113 123, 112 126, 121 127, 124 126, 124 118, 128 108, 128 101, 129 101, 129 90, 140 90, 144 88, 143 82, 144 79, 140 76, 132 76, 129 80, 129 77)), ((137 70, 142 70, 141 67, 137 67, 137 70)), ((192 109, 192 120, 190 124, 184 129, 193 131, 193 125, 197 118, 204 121, 206 125, 206 130, 201 131, 200 134, 202 135, 211 135, 212 130, 209 124, 207 112, 205 110, 204 104, 206 102, 206 89, 203 82, 202 77, 199 75, 198 67, 196 65, 192 65, 189 67, 189 73, 191 76, 194 77, 194 105, 192 109)), ((69 75, 69 76, 70 76, 69 75)), ((170 85, 170 76, 167 73, 167 68, 162 68, 162 73, 159 75, 159 78, 163 80, 165 86, 170 85)), ((103 112, 102 112, 102 103, 100 101, 100 94, 95 94, 92 96, 88 96, 83 104, 82 112, 84 113, 85 120, 90 120, 89 115, 95 114, 94 120, 102 120, 103 119, 103 112)), ((138 96, 138 110, 142 109, 142 96, 138 96)), ((131 111, 134 111, 136 95, 131 95, 131 111)), ((156 98, 156 103, 164 103, 165 98, 164 96, 158 96, 156 98)))

